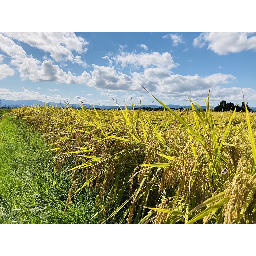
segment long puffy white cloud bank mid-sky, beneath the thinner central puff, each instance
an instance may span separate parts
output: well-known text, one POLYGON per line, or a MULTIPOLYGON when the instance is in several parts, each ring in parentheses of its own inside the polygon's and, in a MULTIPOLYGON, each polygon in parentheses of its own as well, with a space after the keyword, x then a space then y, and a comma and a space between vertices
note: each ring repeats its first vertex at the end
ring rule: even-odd
MULTIPOLYGON (((88 82, 89 86, 96 87, 101 90, 108 91, 148 91, 156 95, 165 95, 180 99, 184 95, 189 95, 190 91, 199 92, 202 94, 204 90, 209 90, 220 84, 228 84, 236 80, 236 77, 231 74, 212 74, 210 76, 201 77, 181 76, 172 74, 168 68, 145 68, 143 73, 133 72, 131 76, 127 76, 121 72, 116 72, 114 67, 94 66, 94 71, 91 72, 92 79, 88 82)), ((101 92, 106 94, 105 92, 101 92)))

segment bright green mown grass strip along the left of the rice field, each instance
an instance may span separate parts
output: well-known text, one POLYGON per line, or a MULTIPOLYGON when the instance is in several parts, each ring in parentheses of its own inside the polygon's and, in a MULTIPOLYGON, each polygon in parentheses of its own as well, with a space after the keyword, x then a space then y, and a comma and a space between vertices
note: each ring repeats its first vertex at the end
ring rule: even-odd
POLYGON ((0 223, 98 223, 95 195, 81 191, 64 214, 72 180, 56 174, 53 152, 21 119, 0 121, 0 223), (89 221, 88 221, 89 220, 89 221))

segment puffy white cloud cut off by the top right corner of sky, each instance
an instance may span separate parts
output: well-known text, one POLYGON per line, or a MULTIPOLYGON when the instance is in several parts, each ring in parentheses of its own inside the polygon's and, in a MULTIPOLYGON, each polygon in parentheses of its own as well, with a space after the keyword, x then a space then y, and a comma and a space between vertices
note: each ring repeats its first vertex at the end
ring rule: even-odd
POLYGON ((202 48, 208 44, 207 49, 218 55, 226 55, 230 52, 256 50, 256 36, 246 32, 210 32, 201 33, 194 39, 194 47, 202 48))

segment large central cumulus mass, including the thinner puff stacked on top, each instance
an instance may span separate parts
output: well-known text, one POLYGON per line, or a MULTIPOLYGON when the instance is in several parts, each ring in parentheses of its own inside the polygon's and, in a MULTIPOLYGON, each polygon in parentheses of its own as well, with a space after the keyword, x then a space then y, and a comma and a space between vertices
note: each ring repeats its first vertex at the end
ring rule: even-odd
POLYGON ((117 72, 114 66, 93 65, 94 70, 91 72, 91 79, 87 85, 100 90, 144 93, 143 87, 145 87, 150 92, 179 97, 178 95, 184 95, 184 92, 189 94, 192 90, 202 91, 236 80, 233 75, 222 73, 206 77, 197 74, 194 76, 173 74, 172 68, 177 67, 178 64, 174 63, 171 54, 168 52, 162 54, 159 52, 139 54, 120 52, 120 54, 112 56, 111 59, 117 65, 121 64, 122 68, 129 67, 130 74, 117 72), (136 69, 140 69, 140 72, 137 72, 136 69))

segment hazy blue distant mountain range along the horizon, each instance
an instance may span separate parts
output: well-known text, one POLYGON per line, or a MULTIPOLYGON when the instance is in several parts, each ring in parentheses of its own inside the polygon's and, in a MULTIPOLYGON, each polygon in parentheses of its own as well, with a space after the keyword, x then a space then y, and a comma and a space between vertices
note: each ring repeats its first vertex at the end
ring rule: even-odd
MULTIPOLYGON (((65 103, 57 103, 57 102, 43 102, 43 101, 39 101, 39 100, 5 100, 5 99, 1 99, 0 100, 0 105, 4 106, 5 108, 20 108, 22 106, 43 106, 43 105, 48 105, 50 106, 51 104, 54 107, 64 107, 65 103)), ((81 108, 80 104, 70 104, 73 108, 81 108)), ((92 105, 90 104, 84 104, 86 106, 86 108, 93 108, 92 105)), ((184 105, 175 105, 175 104, 166 104, 167 107, 169 108, 191 108, 191 105, 188 106, 184 106, 184 105)), ((100 106, 100 105, 94 105, 95 108, 103 108, 103 109, 115 109, 116 106, 100 106)), ((125 108, 125 106, 120 106, 121 108, 125 108)), ((135 106, 134 106, 135 107, 135 106)), ((159 106, 159 105, 141 105, 141 108, 161 108, 163 106, 159 106)), ((127 108, 132 108, 132 106, 127 106, 127 108)), ((202 106, 203 109, 206 109, 206 106, 202 106)), ((211 106, 211 108, 215 108, 214 106, 211 106)), ((252 110, 256 111, 256 107, 250 107, 252 110)))

